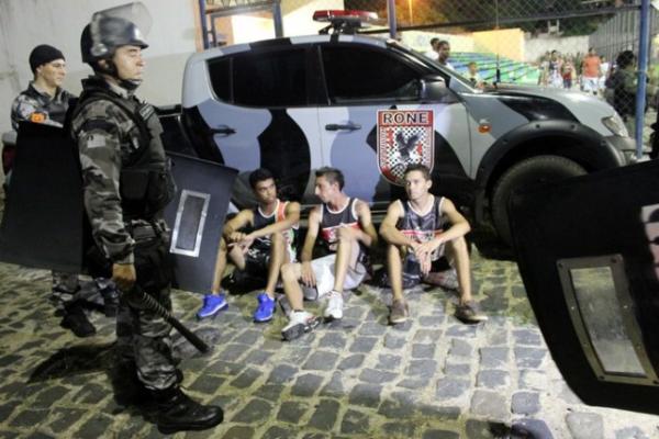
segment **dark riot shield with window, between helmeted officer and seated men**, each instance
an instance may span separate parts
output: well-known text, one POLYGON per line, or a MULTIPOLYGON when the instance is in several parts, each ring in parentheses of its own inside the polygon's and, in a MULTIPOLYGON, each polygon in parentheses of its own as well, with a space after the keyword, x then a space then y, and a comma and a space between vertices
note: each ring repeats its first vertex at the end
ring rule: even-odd
POLYGON ((176 198, 165 211, 171 228, 169 251, 175 260, 175 286, 208 293, 231 188, 238 171, 175 153, 168 156, 177 184, 176 198))

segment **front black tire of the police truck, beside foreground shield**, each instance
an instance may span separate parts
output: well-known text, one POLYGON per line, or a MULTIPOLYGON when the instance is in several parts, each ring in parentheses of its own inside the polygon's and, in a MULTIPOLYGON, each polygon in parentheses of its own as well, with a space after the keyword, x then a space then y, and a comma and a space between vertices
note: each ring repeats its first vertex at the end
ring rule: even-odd
POLYGON ((560 156, 536 156, 511 167, 494 185, 491 199, 492 221, 503 244, 513 244, 507 216, 507 203, 513 190, 584 173, 585 169, 579 164, 560 156))

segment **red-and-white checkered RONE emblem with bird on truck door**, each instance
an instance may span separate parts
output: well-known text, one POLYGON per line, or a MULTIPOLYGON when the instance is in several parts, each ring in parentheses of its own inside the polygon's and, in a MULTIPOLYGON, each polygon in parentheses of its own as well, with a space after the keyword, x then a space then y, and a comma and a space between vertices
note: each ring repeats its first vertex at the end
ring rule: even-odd
POLYGON ((433 169, 435 132, 432 110, 378 111, 378 166, 387 180, 403 185, 407 166, 433 169))

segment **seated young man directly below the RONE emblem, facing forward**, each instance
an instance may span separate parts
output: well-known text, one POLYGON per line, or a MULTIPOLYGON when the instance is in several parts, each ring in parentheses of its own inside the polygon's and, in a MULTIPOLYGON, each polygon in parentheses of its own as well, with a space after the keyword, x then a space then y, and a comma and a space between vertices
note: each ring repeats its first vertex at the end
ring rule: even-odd
POLYGON ((471 299, 469 251, 465 240, 471 228, 469 223, 449 199, 429 193, 433 181, 427 167, 409 166, 404 179, 407 201, 391 203, 380 226, 380 235, 389 244, 387 267, 393 293, 389 320, 402 323, 410 315, 403 297, 403 278, 407 288, 422 281, 433 283, 433 262, 445 249, 457 269, 460 302, 456 317, 468 323, 485 320, 488 317, 479 313, 471 299))

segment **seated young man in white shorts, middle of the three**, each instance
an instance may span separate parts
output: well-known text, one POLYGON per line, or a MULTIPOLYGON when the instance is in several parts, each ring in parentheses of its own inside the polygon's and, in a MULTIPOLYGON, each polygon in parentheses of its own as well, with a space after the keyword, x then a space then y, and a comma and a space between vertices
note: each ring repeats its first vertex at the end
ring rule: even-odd
POLYGON ((351 199, 343 192, 344 176, 335 168, 321 168, 315 172, 315 194, 322 204, 309 214, 309 229, 302 247, 300 263, 281 267, 283 291, 291 313, 289 324, 281 334, 292 340, 317 325, 315 316, 304 311, 300 280, 308 288, 315 286, 317 297, 330 294, 326 318, 343 317, 343 291, 357 288, 367 269, 367 248, 378 234, 371 223, 371 213, 364 201, 351 199), (321 234, 327 256, 312 260, 316 237, 321 234))

